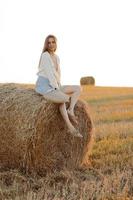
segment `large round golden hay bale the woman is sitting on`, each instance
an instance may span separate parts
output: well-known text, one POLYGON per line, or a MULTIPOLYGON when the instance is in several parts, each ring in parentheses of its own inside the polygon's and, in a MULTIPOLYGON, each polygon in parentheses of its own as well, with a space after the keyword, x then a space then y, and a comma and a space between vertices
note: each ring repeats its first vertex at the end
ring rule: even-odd
POLYGON ((88 106, 75 106, 83 139, 67 132, 58 105, 22 84, 0 85, 0 168, 44 174, 89 162, 93 123, 88 106))

